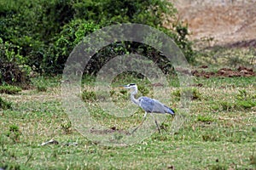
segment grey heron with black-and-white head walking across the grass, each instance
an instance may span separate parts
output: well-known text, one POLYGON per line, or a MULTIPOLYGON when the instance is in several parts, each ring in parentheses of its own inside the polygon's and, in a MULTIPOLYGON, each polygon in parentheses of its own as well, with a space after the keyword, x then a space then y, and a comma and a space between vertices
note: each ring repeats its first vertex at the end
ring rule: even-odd
MULTIPOLYGON (((146 116, 147 116, 148 113, 150 113, 153 117, 154 117, 153 113, 171 114, 172 116, 175 115, 175 112, 170 107, 160 103, 160 101, 157 100, 157 99, 151 99, 151 98, 148 98, 148 97, 145 97, 145 96, 142 96, 142 97, 139 97, 138 99, 135 99, 135 94, 137 94, 137 85, 134 84, 134 83, 121 86, 120 88, 133 89, 131 91, 131 101, 134 104, 143 108, 143 110, 145 111, 145 114, 143 116, 143 122, 145 121, 146 116)), ((143 122, 141 122, 138 127, 140 127, 143 124, 143 122)), ((156 121, 155 118, 154 118, 154 122, 156 124, 156 127, 158 128, 159 133, 160 133, 160 127, 159 127, 158 122, 156 121)), ((132 131, 132 133, 134 133, 137 130, 137 128, 135 128, 132 131)))

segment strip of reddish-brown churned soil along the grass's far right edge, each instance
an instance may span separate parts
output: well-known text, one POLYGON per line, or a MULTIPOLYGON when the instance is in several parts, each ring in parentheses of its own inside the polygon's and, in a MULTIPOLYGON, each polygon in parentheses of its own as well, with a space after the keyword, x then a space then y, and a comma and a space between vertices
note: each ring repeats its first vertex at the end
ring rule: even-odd
MULTIPOLYGON (((204 65, 203 65, 204 66, 204 65)), ((207 68, 206 66, 201 68, 207 68)), ((222 68, 219 69, 217 72, 213 71, 192 71, 191 72, 195 77, 254 77, 256 73, 253 71, 252 68, 247 68, 244 66, 238 67, 236 70, 232 70, 230 68, 222 68)))

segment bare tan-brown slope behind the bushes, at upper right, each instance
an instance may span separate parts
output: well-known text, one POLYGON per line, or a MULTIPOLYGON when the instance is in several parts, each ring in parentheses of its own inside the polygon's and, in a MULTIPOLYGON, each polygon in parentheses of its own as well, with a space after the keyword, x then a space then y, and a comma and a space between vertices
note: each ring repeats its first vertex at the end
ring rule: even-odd
POLYGON ((256 47, 256 0, 170 1, 178 19, 188 24, 190 40, 208 46, 256 47))

